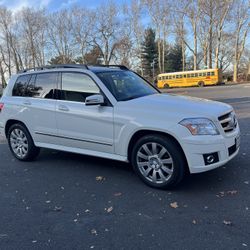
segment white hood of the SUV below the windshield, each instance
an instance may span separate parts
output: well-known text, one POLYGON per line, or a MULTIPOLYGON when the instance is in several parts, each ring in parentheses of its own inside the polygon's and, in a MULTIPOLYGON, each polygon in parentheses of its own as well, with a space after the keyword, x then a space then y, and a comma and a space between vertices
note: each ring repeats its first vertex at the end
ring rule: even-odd
POLYGON ((128 108, 154 114, 173 112, 185 117, 217 118, 232 110, 228 104, 189 96, 155 94, 123 102, 128 108))

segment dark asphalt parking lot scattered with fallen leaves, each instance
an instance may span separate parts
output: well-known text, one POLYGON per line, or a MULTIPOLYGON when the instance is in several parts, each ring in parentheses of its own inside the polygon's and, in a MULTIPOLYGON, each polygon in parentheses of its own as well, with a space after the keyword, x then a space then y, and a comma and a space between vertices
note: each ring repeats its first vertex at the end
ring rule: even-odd
POLYGON ((18 162, 0 138, 0 249, 250 249, 250 84, 167 92, 231 104, 239 155, 163 191, 117 161, 42 150, 18 162))

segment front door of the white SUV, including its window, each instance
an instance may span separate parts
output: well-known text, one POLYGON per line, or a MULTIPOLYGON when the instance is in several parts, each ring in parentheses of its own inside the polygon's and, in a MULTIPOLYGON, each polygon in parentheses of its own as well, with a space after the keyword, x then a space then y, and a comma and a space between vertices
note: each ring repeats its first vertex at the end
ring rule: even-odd
POLYGON ((65 147, 113 153, 113 107, 86 106, 85 99, 101 91, 87 74, 61 73, 56 106, 60 144, 65 147))

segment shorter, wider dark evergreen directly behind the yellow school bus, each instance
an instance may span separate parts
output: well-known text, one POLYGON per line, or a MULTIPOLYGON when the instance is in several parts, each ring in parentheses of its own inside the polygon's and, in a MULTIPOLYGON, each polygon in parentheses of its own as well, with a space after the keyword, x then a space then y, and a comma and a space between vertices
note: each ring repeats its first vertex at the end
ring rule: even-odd
POLYGON ((165 72, 182 71, 182 49, 179 43, 170 46, 166 53, 165 72))

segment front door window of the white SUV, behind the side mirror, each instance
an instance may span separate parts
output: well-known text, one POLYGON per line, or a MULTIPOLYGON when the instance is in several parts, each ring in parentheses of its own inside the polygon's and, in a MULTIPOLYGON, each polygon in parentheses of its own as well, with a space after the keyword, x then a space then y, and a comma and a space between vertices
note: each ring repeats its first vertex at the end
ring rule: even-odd
POLYGON ((81 73, 62 73, 63 100, 85 102, 86 97, 99 93, 98 86, 89 76, 81 73))

